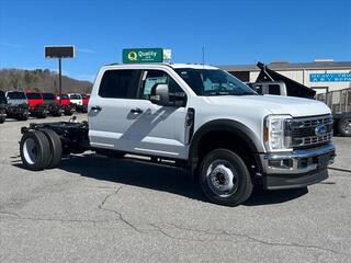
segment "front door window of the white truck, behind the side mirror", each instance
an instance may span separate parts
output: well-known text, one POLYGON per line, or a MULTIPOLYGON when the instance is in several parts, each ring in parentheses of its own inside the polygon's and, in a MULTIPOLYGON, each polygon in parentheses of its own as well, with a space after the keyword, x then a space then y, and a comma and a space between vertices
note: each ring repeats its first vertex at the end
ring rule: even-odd
POLYGON ((143 73, 139 98, 149 100, 151 90, 157 84, 168 84, 170 94, 174 94, 176 92, 183 92, 179 84, 165 71, 147 70, 143 73))

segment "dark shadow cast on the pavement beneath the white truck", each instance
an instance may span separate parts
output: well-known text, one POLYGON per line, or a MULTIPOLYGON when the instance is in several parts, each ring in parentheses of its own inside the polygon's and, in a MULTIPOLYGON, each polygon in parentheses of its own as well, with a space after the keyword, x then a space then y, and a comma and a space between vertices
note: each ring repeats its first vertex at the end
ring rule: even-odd
MULTIPOLYGON (((22 163, 12 165, 22 168, 22 163)), ((162 164, 146 163, 137 159, 113 159, 94 153, 64 158, 59 168, 81 176, 133 185, 137 187, 169 192, 192 199, 207 202, 200 186, 182 169, 162 164)), ((285 203, 308 193, 301 190, 263 191, 257 187, 245 206, 285 203)))

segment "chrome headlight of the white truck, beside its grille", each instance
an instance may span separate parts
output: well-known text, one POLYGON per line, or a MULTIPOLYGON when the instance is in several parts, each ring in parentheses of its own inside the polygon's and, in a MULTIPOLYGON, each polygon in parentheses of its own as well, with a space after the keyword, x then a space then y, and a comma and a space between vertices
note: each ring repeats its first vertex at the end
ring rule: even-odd
POLYGON ((293 150, 291 135, 291 115, 269 115, 264 119, 263 140, 268 151, 293 150))

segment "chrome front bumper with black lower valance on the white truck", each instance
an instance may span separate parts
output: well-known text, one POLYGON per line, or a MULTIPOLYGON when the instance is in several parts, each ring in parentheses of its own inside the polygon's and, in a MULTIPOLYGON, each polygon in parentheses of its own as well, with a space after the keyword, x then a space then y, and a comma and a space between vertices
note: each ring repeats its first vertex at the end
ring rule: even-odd
POLYGON ((296 188, 318 183, 328 178, 327 167, 335 156, 331 142, 292 152, 259 155, 264 187, 296 188))

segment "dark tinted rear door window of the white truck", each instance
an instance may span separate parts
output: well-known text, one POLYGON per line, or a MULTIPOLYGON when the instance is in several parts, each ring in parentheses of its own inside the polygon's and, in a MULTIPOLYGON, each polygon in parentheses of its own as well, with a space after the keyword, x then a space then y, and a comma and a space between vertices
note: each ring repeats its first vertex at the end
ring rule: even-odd
POLYGON ((99 95, 110 99, 135 99, 139 70, 107 70, 104 72, 99 95))

